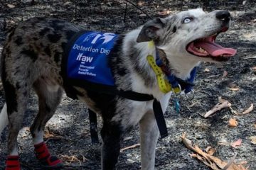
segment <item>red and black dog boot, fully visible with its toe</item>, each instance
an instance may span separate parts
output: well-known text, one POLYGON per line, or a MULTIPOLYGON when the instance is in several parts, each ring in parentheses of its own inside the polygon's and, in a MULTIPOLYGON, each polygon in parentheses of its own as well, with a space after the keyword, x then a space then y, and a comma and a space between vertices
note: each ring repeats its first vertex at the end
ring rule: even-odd
POLYGON ((63 162, 58 157, 52 156, 44 142, 34 145, 36 158, 47 169, 58 169, 63 166, 63 162))

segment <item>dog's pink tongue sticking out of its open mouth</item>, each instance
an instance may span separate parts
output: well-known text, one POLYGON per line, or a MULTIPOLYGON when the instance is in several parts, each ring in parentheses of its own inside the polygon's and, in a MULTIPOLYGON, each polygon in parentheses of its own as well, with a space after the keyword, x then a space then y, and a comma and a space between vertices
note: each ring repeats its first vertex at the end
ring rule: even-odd
POLYGON ((221 55, 233 56, 236 53, 235 49, 222 47, 213 41, 194 42, 194 46, 203 48, 213 57, 218 57, 221 55))

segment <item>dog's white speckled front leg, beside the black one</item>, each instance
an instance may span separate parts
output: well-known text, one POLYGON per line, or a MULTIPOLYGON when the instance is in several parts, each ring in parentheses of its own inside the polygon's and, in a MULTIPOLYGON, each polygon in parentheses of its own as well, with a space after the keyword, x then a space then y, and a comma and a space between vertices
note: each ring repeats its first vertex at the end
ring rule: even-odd
POLYGON ((153 111, 147 112, 139 122, 142 170, 153 170, 159 130, 153 111))

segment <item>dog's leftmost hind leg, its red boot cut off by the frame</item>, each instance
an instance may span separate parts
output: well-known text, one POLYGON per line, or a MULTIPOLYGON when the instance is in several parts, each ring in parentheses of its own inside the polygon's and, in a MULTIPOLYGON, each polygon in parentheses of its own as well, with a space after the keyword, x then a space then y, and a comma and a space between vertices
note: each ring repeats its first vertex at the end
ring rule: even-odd
MULTIPOLYGON (((18 74, 18 73, 17 73, 18 74)), ((20 77, 19 77, 20 78, 20 77)), ((22 127, 23 115, 26 111, 29 85, 23 79, 6 79, 6 72, 2 73, 2 80, 6 96, 6 111, 9 119, 8 157, 6 170, 21 169, 18 162, 17 136, 22 127)))

